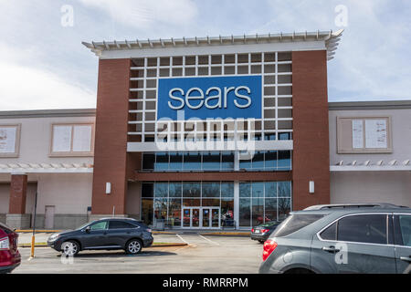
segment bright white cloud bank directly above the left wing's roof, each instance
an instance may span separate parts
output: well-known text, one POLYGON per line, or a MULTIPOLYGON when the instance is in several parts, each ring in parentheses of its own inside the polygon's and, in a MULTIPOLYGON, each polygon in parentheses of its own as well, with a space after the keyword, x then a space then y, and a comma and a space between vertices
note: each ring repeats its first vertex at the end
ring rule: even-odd
POLYGON ((40 67, 24 51, 0 46, 0 110, 95 108, 94 92, 40 67))

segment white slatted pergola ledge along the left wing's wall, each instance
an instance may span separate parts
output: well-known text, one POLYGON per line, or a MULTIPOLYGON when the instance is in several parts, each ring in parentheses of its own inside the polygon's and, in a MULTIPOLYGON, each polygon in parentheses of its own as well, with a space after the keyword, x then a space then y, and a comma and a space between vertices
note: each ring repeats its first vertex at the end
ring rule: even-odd
POLYGON ((0 173, 92 173, 87 163, 7 163, 0 164, 0 173))

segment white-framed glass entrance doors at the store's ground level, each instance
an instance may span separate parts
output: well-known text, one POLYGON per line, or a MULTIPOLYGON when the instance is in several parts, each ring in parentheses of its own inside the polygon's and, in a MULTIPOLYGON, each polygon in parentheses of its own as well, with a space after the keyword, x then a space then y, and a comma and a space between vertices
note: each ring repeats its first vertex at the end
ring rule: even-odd
POLYGON ((219 207, 183 207, 183 228, 220 228, 219 207))

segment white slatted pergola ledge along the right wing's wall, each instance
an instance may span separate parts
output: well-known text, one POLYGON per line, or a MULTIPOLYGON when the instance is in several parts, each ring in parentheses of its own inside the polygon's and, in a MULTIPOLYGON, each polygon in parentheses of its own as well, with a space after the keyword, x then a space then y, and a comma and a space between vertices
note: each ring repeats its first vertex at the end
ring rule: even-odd
POLYGON ((390 162, 385 161, 365 161, 358 163, 353 162, 337 162, 335 165, 330 166, 331 172, 387 172, 387 171, 407 171, 411 172, 411 160, 405 160, 400 162, 398 160, 392 160, 390 162))

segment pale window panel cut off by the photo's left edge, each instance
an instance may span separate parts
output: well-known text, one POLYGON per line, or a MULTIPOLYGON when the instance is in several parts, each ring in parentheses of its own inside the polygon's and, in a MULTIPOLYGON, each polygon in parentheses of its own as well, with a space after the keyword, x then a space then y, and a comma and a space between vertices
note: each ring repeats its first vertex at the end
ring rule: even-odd
POLYGON ((0 125, 0 157, 18 157, 20 124, 0 125))

